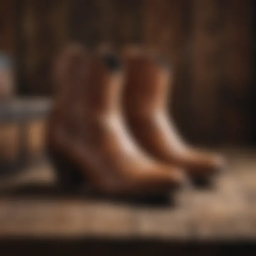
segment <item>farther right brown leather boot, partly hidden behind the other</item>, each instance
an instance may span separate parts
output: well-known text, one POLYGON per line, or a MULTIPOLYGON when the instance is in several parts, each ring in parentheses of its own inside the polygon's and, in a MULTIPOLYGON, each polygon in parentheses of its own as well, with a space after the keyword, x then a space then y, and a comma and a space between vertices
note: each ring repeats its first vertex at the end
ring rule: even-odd
POLYGON ((191 148, 177 133, 167 113, 168 67, 155 54, 136 47, 127 47, 123 56, 127 67, 124 108, 133 135, 157 159, 177 164, 194 180, 207 182, 223 159, 191 148))

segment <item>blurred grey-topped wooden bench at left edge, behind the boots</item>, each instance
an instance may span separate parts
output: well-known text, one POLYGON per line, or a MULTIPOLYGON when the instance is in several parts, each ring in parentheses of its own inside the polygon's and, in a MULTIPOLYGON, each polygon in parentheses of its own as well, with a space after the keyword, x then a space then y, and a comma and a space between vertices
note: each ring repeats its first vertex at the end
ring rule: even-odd
POLYGON ((44 134, 50 101, 0 102, 0 176, 44 159, 44 134))

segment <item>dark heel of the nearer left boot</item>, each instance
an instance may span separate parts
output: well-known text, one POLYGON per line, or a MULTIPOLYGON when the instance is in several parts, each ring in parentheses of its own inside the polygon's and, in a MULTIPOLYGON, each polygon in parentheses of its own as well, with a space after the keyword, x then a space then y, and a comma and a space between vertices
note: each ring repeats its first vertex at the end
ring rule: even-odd
POLYGON ((61 190, 76 192, 86 183, 85 175, 70 159, 58 153, 51 152, 50 161, 53 164, 58 186, 61 190))

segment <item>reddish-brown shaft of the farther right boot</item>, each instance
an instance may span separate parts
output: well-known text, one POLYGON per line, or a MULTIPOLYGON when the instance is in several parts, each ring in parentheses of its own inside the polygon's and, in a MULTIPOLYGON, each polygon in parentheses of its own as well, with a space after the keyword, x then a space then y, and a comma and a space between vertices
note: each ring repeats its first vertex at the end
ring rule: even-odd
POLYGON ((128 116, 164 111, 171 82, 168 66, 157 55, 127 54, 124 107, 128 116), (135 111, 136 110, 136 111, 135 111))

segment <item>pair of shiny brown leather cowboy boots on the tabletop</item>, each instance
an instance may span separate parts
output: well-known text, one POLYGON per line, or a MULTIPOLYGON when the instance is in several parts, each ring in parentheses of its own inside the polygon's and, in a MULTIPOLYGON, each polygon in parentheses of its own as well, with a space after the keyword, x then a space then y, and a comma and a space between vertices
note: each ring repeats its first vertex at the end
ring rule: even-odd
POLYGON ((156 195, 214 175, 222 158, 187 146, 167 114, 165 63, 132 48, 121 56, 72 45, 57 58, 48 148, 60 184, 156 195))

